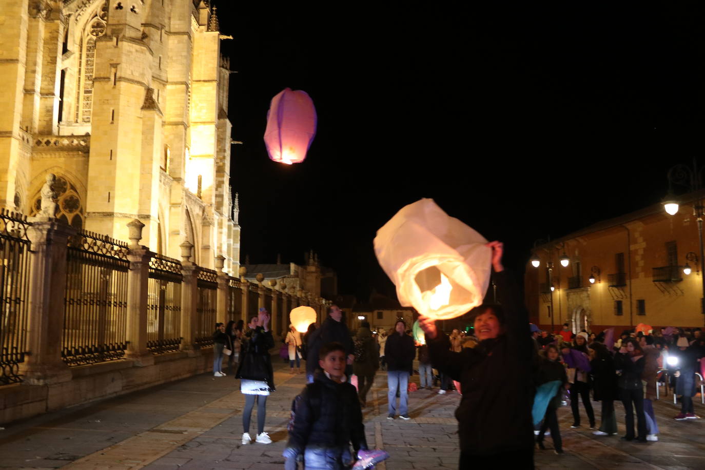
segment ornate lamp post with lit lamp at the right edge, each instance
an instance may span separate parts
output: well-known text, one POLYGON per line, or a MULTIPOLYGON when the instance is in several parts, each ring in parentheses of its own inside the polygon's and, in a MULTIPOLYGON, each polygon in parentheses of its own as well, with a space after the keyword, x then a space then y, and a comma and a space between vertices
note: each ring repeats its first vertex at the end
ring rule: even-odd
MULTIPOLYGON (((678 214, 680 199, 673 194, 671 184, 680 185, 687 188, 689 192, 696 192, 703 187, 703 168, 698 168, 698 163, 693 158, 693 166, 679 163, 668 170, 668 194, 663 198, 663 209, 672 216, 678 214)), ((700 245, 700 280, 702 283, 702 297, 700 299, 700 313, 705 314, 705 258, 703 256, 703 199, 697 197, 693 202, 693 215, 698 221, 698 243, 700 245)), ((696 261, 697 262, 697 261, 696 261)), ((705 320, 704 320, 705 321, 705 320)))

